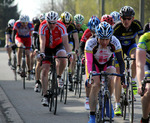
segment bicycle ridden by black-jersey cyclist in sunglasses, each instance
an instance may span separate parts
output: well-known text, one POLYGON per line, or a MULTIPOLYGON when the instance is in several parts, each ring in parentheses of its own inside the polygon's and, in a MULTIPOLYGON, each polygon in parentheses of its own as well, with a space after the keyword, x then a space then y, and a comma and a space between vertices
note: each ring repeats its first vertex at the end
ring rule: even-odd
POLYGON ((128 114, 129 114, 129 121, 130 123, 133 123, 134 120, 134 95, 133 95, 133 88, 132 88, 132 81, 131 81, 131 75, 130 75, 130 61, 135 60, 135 58, 129 58, 126 57, 124 59, 126 64, 126 84, 127 88, 121 95, 121 115, 123 119, 126 119, 126 108, 128 106, 128 114))

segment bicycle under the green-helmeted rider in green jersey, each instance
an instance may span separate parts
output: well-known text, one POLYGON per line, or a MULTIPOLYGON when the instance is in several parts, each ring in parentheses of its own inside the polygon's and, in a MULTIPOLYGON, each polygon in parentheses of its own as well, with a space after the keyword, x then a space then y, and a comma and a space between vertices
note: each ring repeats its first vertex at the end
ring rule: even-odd
POLYGON ((75 75, 74 75, 74 87, 75 87, 75 95, 78 93, 79 98, 81 97, 81 91, 82 91, 82 75, 83 75, 83 67, 82 67, 82 62, 77 55, 77 60, 76 60, 76 66, 75 66, 75 75))

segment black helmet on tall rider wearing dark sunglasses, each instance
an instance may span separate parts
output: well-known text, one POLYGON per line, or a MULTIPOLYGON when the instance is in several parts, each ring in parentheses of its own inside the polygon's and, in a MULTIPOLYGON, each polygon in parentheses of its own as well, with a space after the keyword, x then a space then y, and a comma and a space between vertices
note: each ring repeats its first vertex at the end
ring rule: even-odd
POLYGON ((124 6, 120 9, 120 16, 121 17, 125 17, 125 16, 134 16, 135 15, 135 12, 134 12, 134 9, 130 6, 124 6))

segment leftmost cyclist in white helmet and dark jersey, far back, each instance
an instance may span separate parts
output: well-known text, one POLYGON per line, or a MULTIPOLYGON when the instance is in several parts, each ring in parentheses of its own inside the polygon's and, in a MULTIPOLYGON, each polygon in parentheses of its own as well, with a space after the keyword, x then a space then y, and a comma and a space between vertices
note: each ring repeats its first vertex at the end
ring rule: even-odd
POLYGON ((15 24, 15 20, 14 19, 10 19, 8 21, 8 26, 6 27, 6 30, 5 30, 5 47, 6 47, 6 50, 7 50, 7 53, 8 53, 8 65, 10 66, 11 65, 11 52, 12 52, 12 49, 10 47, 10 45, 12 44, 12 29, 13 29, 13 26, 15 24))

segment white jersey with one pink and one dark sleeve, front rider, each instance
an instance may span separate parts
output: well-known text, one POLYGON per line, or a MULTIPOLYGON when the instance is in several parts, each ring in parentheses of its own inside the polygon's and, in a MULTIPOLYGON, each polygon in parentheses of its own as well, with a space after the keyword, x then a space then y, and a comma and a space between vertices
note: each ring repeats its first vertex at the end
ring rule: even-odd
POLYGON ((122 48, 119 40, 112 36, 107 48, 102 48, 102 46, 97 42, 97 38, 90 38, 85 45, 85 59, 86 59, 86 76, 89 77, 89 73, 92 70, 92 65, 99 64, 103 65, 109 62, 113 58, 113 53, 115 52, 117 60, 120 65, 120 73, 124 72, 124 60, 122 56, 122 48))

